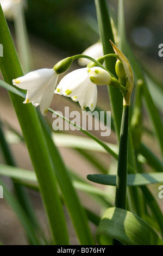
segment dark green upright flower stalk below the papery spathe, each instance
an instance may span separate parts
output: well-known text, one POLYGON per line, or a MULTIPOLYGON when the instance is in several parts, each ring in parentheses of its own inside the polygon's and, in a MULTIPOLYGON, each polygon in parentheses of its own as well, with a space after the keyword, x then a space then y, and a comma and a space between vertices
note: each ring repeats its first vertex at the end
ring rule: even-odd
POLYGON ((126 209, 129 106, 123 106, 115 206, 126 209))

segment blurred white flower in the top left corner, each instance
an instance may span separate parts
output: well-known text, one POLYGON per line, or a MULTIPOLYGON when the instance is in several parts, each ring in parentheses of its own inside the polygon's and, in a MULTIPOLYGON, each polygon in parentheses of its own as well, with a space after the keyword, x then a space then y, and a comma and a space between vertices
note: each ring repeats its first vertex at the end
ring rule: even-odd
POLYGON ((15 15, 15 8, 17 4, 26 6, 25 0, 0 0, 3 13, 7 19, 12 20, 15 15))

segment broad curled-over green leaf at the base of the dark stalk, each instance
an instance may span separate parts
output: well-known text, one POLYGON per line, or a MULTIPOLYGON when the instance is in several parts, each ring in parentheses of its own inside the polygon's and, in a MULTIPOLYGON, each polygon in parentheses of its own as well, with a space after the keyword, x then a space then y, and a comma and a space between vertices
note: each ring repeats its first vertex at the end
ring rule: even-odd
POLYGON ((100 245, 107 245, 110 237, 124 245, 163 245, 158 234, 142 218, 115 207, 106 210, 97 228, 96 237, 100 245))

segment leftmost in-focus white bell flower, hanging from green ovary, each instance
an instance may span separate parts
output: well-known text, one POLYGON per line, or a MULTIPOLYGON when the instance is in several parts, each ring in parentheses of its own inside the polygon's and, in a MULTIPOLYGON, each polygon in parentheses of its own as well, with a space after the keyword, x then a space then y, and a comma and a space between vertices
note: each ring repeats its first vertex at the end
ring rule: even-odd
POLYGON ((54 69, 39 69, 12 80, 12 83, 27 90, 23 103, 32 102, 35 107, 40 105, 41 114, 45 116, 52 102, 58 76, 54 69))

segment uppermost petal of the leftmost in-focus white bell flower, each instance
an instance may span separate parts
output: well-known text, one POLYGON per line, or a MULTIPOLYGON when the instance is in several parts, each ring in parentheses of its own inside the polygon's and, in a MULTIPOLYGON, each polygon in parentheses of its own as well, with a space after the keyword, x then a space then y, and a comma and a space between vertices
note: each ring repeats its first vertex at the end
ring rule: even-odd
POLYGON ((45 86, 45 84, 51 79, 53 75, 58 77, 54 69, 39 69, 12 80, 12 83, 18 88, 26 90, 40 88, 45 86))

